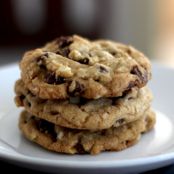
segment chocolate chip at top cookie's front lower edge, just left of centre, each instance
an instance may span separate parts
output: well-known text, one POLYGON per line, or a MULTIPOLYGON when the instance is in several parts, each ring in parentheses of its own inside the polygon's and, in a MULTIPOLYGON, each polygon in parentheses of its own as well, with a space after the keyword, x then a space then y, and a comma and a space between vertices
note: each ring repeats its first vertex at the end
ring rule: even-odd
POLYGON ((79 83, 78 81, 72 81, 71 84, 69 85, 68 92, 70 96, 79 96, 84 92, 84 90, 85 86, 83 84, 79 83))

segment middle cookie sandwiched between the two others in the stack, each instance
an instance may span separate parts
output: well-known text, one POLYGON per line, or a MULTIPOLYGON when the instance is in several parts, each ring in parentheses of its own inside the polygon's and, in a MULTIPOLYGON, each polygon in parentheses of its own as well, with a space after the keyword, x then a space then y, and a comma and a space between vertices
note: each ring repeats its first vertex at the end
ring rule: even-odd
POLYGON ((73 97, 46 100, 33 95, 22 80, 15 85, 17 106, 56 125, 101 130, 139 119, 150 108, 152 94, 147 87, 132 89, 122 97, 87 100, 73 97))

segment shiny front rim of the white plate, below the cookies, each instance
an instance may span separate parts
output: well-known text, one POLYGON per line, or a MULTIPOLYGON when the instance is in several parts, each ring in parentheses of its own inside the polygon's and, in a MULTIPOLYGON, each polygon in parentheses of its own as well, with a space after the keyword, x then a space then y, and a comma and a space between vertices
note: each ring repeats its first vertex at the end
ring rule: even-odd
MULTIPOLYGON (((106 152, 107 153, 107 152, 106 152)), ((115 160, 115 161, 66 161, 66 160, 51 160, 51 159, 42 159, 40 157, 30 157, 22 154, 9 154, 0 151, 0 158, 8 159, 15 162, 26 163, 26 164, 34 164, 34 165, 45 165, 49 167, 66 167, 66 168, 123 168, 123 167, 134 167, 134 166, 145 166, 145 165, 153 165, 159 162, 171 161, 174 160, 174 152, 160 154, 156 156, 150 157, 142 157, 136 159, 126 159, 126 160, 115 160)), ((72 156, 73 157, 73 156, 72 156)))

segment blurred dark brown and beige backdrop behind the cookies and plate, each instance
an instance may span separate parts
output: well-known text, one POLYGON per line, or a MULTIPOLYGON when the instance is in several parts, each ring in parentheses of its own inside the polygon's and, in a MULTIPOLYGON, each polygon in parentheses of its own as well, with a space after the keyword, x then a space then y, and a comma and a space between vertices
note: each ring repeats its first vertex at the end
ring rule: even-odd
POLYGON ((73 33, 131 44, 174 67, 174 0, 0 1, 0 65, 73 33))

